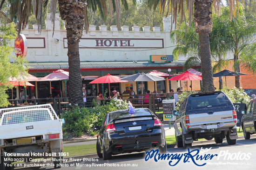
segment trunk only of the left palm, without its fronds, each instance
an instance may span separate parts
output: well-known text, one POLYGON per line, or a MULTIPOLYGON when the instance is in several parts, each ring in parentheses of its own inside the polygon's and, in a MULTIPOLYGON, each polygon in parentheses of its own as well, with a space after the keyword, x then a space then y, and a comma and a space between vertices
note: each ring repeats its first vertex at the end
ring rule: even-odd
POLYGON ((82 36, 86 0, 58 0, 61 19, 66 20, 69 93, 71 105, 84 106, 80 70, 79 42, 82 36))

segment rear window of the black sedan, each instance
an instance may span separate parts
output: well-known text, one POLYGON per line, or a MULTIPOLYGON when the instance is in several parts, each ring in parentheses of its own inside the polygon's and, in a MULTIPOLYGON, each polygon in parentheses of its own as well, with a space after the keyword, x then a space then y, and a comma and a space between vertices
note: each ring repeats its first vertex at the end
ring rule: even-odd
MULTIPOLYGON (((152 116, 152 115, 153 114, 148 109, 135 109, 135 113, 132 113, 132 114, 128 113, 128 110, 119 110, 116 112, 108 113, 107 123, 110 123, 111 121, 116 119, 126 119, 126 118, 134 119, 137 116, 152 116)), ((145 120, 145 119, 146 118, 141 120, 145 120)), ((153 119, 153 118, 150 117, 150 119, 153 119)), ((121 120, 116 121, 116 123, 120 123, 120 122, 123 122, 123 121, 121 120)))

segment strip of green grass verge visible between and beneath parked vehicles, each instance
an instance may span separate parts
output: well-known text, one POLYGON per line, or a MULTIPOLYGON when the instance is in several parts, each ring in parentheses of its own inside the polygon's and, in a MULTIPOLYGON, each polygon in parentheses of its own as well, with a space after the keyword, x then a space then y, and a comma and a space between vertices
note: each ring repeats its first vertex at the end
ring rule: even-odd
MULTIPOLYGON (((243 136, 243 130, 242 128, 237 129, 238 136, 243 136)), ((166 144, 175 144, 175 135, 168 135, 165 137, 166 144)), ((205 139, 198 139, 198 140, 205 140, 205 139)), ((68 157, 74 157, 78 155, 88 155, 88 154, 94 154, 96 152, 96 144, 90 144, 90 145, 78 145, 78 146, 65 146, 63 152, 68 153, 68 157)))

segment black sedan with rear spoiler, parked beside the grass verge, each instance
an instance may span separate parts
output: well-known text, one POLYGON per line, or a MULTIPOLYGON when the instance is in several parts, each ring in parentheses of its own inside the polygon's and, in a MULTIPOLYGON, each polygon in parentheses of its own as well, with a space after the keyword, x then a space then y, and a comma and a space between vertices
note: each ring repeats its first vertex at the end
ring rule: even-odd
POLYGON ((135 108, 135 113, 109 112, 97 136, 96 149, 104 160, 120 153, 151 149, 166 153, 165 132, 161 121, 147 108, 135 108))

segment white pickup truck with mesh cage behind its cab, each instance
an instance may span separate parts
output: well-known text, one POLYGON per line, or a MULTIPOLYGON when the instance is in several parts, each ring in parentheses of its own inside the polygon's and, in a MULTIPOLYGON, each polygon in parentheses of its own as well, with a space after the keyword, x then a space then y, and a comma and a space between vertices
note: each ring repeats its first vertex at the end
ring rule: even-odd
POLYGON ((62 121, 50 104, 0 109, 0 170, 37 157, 54 157, 61 168, 62 151, 62 121))

